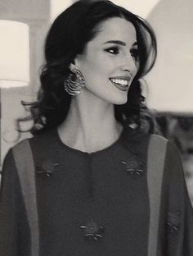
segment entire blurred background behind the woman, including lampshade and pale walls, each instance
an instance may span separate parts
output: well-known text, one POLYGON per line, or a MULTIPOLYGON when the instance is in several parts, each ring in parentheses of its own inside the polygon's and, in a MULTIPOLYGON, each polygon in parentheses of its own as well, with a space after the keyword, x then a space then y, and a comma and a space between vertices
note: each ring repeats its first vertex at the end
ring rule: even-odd
MULTIPOLYGON (((16 130, 16 118, 29 116, 28 105, 20 101, 36 99, 47 30, 73 2, 0 0, 1 164, 8 149, 31 136, 28 132, 19 136, 16 130)), ((113 2, 146 18, 155 30, 158 58, 145 77, 143 94, 162 134, 180 150, 193 203, 193 1, 113 2)))

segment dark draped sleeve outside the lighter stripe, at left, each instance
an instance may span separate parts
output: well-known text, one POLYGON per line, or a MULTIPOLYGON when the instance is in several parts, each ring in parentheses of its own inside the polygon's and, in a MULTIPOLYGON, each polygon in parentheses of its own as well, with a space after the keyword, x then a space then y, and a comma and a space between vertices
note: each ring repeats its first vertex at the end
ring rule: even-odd
POLYGON ((29 255, 29 225, 12 150, 7 153, 2 167, 0 254, 29 255))

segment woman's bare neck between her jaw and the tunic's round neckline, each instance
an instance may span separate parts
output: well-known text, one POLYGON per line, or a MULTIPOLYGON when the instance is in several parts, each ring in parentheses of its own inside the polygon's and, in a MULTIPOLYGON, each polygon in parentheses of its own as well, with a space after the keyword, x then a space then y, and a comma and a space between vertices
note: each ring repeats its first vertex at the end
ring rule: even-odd
POLYGON ((92 153, 113 144, 122 130, 114 118, 113 104, 76 97, 72 98, 70 111, 58 133, 70 148, 92 153))

